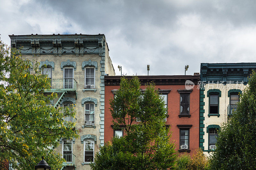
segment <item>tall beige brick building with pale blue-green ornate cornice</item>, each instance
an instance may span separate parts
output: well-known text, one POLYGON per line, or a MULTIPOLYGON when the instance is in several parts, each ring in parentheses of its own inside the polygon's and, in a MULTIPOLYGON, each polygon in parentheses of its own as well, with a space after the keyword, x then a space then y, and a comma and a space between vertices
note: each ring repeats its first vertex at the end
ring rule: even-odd
MULTIPOLYGON (((20 48, 43 74, 52 79, 56 107, 75 104, 79 139, 60 139, 55 148, 66 159, 62 169, 91 169, 89 163, 104 144, 104 76, 114 76, 108 44, 99 35, 10 35, 12 47, 20 48), (44 68, 44 66, 47 66, 44 68)), ((33 67, 31 73, 33 73, 33 67)))

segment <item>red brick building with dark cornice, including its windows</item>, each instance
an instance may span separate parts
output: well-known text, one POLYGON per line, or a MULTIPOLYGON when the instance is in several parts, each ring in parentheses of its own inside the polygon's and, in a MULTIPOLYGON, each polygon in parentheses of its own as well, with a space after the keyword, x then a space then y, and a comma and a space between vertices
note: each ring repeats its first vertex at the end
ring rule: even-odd
MULTIPOLYGON (((122 131, 115 131, 111 127, 112 116, 109 111, 109 100, 119 89, 121 76, 105 76, 105 127, 104 141, 110 141, 114 134, 122 135, 122 131)), ((127 76, 128 79, 132 78, 127 76)), ((175 150, 192 154, 199 148, 199 88, 200 80, 196 76, 138 76, 141 89, 151 81, 156 84, 156 89, 163 95, 168 113, 166 126, 170 126, 172 139, 175 141, 175 150), (190 80, 190 81, 187 81, 190 80), (187 82, 186 82, 187 81, 187 82), (185 82, 195 84, 191 90, 186 90, 185 82), (183 148, 183 149, 180 149, 183 148)), ((187 88, 188 89, 188 88, 187 88)))

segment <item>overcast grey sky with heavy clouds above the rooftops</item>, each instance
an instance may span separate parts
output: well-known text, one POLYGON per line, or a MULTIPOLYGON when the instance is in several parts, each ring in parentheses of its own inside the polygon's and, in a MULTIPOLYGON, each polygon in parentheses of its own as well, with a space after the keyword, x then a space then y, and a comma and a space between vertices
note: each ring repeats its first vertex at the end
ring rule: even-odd
POLYGON ((116 75, 256 62, 256 1, 0 0, 0 34, 105 34, 116 75))

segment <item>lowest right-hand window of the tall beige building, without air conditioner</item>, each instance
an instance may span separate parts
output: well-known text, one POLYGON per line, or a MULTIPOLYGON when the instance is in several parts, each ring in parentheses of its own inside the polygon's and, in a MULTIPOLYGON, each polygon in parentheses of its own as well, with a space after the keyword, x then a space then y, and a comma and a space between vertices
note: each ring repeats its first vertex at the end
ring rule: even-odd
POLYGON ((94 141, 84 141, 84 162, 94 162, 94 141))

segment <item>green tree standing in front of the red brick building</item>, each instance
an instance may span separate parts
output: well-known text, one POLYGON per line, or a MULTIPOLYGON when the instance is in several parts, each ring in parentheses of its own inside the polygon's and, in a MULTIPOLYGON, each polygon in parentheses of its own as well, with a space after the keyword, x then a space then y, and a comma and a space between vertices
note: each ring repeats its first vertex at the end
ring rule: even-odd
POLYGON ((114 128, 124 130, 124 137, 114 137, 96 154, 93 170, 166 169, 176 159, 174 144, 165 127, 164 101, 149 84, 140 89, 137 77, 121 78, 120 89, 110 100, 114 128), (140 122, 136 122, 136 119, 140 122))

